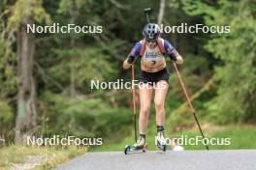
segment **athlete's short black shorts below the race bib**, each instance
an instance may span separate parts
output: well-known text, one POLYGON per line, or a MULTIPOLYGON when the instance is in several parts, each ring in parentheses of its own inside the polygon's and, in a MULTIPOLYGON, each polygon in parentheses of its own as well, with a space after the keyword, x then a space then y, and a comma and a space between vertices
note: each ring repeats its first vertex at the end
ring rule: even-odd
POLYGON ((157 83, 160 80, 166 80, 169 82, 169 77, 170 73, 166 68, 157 72, 141 71, 140 82, 150 84, 157 83))

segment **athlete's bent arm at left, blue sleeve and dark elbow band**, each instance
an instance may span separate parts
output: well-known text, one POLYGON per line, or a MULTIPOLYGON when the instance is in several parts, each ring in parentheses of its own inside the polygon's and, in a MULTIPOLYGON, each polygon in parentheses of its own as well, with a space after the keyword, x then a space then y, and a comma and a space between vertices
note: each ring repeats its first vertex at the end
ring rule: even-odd
POLYGON ((123 69, 127 70, 131 67, 132 63, 139 57, 140 49, 141 49, 141 42, 137 42, 133 49, 131 50, 130 54, 128 55, 127 59, 123 62, 123 69))

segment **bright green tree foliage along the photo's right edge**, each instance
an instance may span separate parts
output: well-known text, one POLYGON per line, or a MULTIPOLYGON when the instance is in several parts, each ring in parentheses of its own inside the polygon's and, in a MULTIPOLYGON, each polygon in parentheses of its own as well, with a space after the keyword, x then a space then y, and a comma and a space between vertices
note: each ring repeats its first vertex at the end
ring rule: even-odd
MULTIPOLYGON (((224 114, 226 119, 229 118, 223 120, 223 123, 256 120, 256 38, 251 36, 256 34, 256 21, 251 6, 256 4, 244 1, 235 6, 239 15, 223 19, 231 26, 231 33, 213 39, 207 46, 209 51, 215 53, 216 58, 223 61, 223 66, 217 67, 215 71, 216 79, 220 82, 218 96, 208 103, 216 107, 209 107, 211 112, 224 114), (240 24, 240 20, 243 24, 240 24)), ((218 14, 225 14, 229 9, 230 4, 222 4, 218 14)), ((214 18, 216 23, 219 17, 220 15, 214 18)))

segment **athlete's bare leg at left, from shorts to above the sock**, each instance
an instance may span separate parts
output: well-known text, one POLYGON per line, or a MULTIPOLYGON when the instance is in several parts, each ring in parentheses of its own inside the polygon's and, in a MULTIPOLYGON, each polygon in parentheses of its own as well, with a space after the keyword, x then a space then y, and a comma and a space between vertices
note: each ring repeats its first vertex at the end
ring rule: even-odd
POLYGON ((140 118, 139 118, 139 128, 140 134, 146 133, 147 120, 149 116, 149 110, 151 105, 153 88, 149 84, 141 85, 140 87, 140 118))

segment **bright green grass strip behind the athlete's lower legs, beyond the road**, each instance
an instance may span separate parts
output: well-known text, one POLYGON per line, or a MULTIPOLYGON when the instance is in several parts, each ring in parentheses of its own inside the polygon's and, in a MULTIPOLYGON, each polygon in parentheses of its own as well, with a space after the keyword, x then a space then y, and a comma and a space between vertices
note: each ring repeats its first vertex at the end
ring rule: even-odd
MULTIPOLYGON (((230 125, 225 127, 213 126, 212 129, 205 129, 206 137, 208 138, 230 138, 230 145, 217 145, 209 146, 211 150, 239 150, 239 149, 256 149, 256 128, 248 125, 230 125)), ((166 137, 180 137, 181 135, 187 136, 187 138, 200 136, 199 130, 183 130, 176 133, 166 132, 166 137)), ((148 143, 148 150, 157 150, 154 145, 155 128, 150 126, 147 132, 146 141, 148 143)), ((127 136, 122 142, 116 144, 104 145, 102 147, 94 148, 92 151, 122 151, 124 145, 129 142, 134 143, 134 136, 131 134, 127 136)), ((221 142, 221 141, 220 141, 221 142)), ((185 150, 205 150, 204 145, 185 145, 185 150)))

